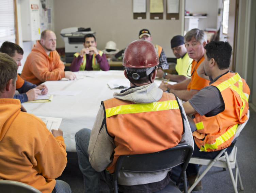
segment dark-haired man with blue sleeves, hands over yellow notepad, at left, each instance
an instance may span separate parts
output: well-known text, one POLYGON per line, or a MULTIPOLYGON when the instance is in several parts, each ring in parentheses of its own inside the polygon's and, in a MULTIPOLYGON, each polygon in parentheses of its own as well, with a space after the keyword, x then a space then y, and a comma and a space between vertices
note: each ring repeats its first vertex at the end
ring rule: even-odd
MULTIPOLYGON (((12 43, 9 41, 3 42, 0 52, 8 54, 11 56, 17 63, 18 68, 21 66, 20 60, 23 58, 23 49, 17 45, 16 43, 12 43)), ((36 86, 30 82, 23 80, 17 74, 17 81, 16 81, 16 90, 19 94, 14 95, 14 99, 19 99, 20 103, 33 101, 38 97, 39 94, 47 94, 48 88, 46 85, 39 85, 36 86)))

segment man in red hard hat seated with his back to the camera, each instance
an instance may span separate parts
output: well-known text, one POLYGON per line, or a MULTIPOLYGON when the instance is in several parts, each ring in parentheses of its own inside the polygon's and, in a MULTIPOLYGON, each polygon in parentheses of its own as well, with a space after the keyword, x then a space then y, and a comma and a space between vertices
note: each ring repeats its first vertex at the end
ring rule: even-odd
MULTIPOLYGON (((81 129, 76 133, 85 192, 100 192, 100 175, 111 186, 111 174, 120 155, 158 152, 178 143, 193 144, 181 102, 154 83, 158 64, 158 54, 151 42, 131 42, 123 58, 124 75, 131 87, 102 102, 92 130, 81 129)), ((169 171, 121 173, 118 191, 157 192, 169 183, 169 171)))

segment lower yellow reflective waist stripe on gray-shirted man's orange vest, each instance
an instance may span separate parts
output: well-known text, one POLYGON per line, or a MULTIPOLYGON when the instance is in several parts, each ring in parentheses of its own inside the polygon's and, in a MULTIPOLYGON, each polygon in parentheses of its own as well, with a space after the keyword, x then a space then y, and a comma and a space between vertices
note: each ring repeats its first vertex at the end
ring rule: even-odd
POLYGON ((212 144, 205 144, 205 146, 201 146, 200 152, 207 152, 207 149, 218 149, 218 146, 233 137, 236 134, 238 124, 234 125, 230 129, 226 131, 226 133, 222 134, 220 137, 218 137, 215 141, 215 143, 212 144))

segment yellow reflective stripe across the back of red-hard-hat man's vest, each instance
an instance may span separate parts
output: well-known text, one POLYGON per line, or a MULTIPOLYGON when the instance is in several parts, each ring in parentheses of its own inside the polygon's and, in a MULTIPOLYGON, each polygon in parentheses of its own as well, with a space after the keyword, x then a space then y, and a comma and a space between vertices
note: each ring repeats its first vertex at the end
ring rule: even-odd
POLYGON ((176 100, 170 101, 160 101, 149 104, 129 104, 120 105, 112 108, 106 109, 106 117, 111 117, 114 115, 128 114, 128 113, 139 113, 139 112, 151 112, 159 110, 170 110, 178 109, 179 105, 176 100))

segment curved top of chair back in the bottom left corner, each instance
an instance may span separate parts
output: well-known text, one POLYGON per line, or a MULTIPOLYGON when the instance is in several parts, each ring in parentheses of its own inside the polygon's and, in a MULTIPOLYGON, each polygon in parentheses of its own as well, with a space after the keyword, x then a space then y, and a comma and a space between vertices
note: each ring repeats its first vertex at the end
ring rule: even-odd
POLYGON ((12 180, 0 180, 0 192, 1 193, 42 193, 32 186, 26 183, 12 181, 12 180))

